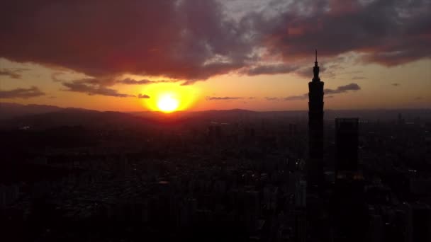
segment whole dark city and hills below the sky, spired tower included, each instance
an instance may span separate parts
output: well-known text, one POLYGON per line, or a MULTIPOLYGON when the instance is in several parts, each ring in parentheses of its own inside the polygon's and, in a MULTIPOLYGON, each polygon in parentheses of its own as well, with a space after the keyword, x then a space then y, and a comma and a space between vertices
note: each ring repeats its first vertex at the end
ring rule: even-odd
POLYGON ((324 123, 317 59, 313 72, 309 120, 62 110, 0 122, 0 241, 430 242, 429 110, 325 110, 324 123))

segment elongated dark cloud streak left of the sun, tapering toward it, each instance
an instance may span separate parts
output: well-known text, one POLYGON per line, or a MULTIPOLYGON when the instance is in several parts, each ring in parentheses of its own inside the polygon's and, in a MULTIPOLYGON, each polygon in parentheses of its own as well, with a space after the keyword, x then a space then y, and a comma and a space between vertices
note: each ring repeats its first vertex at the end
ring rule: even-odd
MULTIPOLYGON (((90 79, 90 80, 93 80, 93 79, 90 79)), ((67 89, 64 89, 63 91, 74 91, 78 93, 86 93, 88 95, 112 96, 112 97, 118 97, 118 98, 134 97, 134 95, 118 93, 118 91, 112 88, 106 88, 105 86, 91 85, 86 81, 88 80, 84 79, 82 81, 75 80, 72 82, 63 82, 62 85, 67 87, 67 89)))

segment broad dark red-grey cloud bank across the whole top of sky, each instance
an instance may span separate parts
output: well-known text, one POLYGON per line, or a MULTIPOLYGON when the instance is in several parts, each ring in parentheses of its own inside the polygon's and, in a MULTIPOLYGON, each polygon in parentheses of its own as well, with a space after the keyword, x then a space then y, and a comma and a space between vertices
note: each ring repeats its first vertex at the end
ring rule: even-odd
POLYGON ((240 4, 240 13, 224 4, 8 1, 0 9, 0 57, 72 69, 109 84, 138 74, 186 80, 183 85, 230 71, 301 73, 305 69, 291 63, 308 62, 315 47, 326 62, 350 52, 385 66, 431 57, 430 1, 272 0, 246 10, 240 4), (274 59, 284 64, 262 64, 274 59))

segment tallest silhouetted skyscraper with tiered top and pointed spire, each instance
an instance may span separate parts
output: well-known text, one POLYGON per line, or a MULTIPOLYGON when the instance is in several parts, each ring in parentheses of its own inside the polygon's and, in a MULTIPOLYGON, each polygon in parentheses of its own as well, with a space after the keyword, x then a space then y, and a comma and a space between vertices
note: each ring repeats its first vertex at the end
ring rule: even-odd
POLYGON ((310 187, 323 180, 323 81, 319 78, 318 51, 315 51, 313 80, 308 83, 307 183, 310 187))

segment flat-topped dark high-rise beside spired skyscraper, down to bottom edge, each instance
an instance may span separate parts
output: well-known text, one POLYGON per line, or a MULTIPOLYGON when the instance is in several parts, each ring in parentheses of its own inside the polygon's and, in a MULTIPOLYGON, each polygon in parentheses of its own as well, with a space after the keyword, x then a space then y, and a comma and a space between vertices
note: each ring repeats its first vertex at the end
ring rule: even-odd
POLYGON ((335 241, 366 241, 364 231, 369 229, 374 233, 372 239, 379 239, 378 231, 384 226, 381 217, 367 217, 364 180, 358 171, 358 126, 357 118, 335 119, 335 241))

